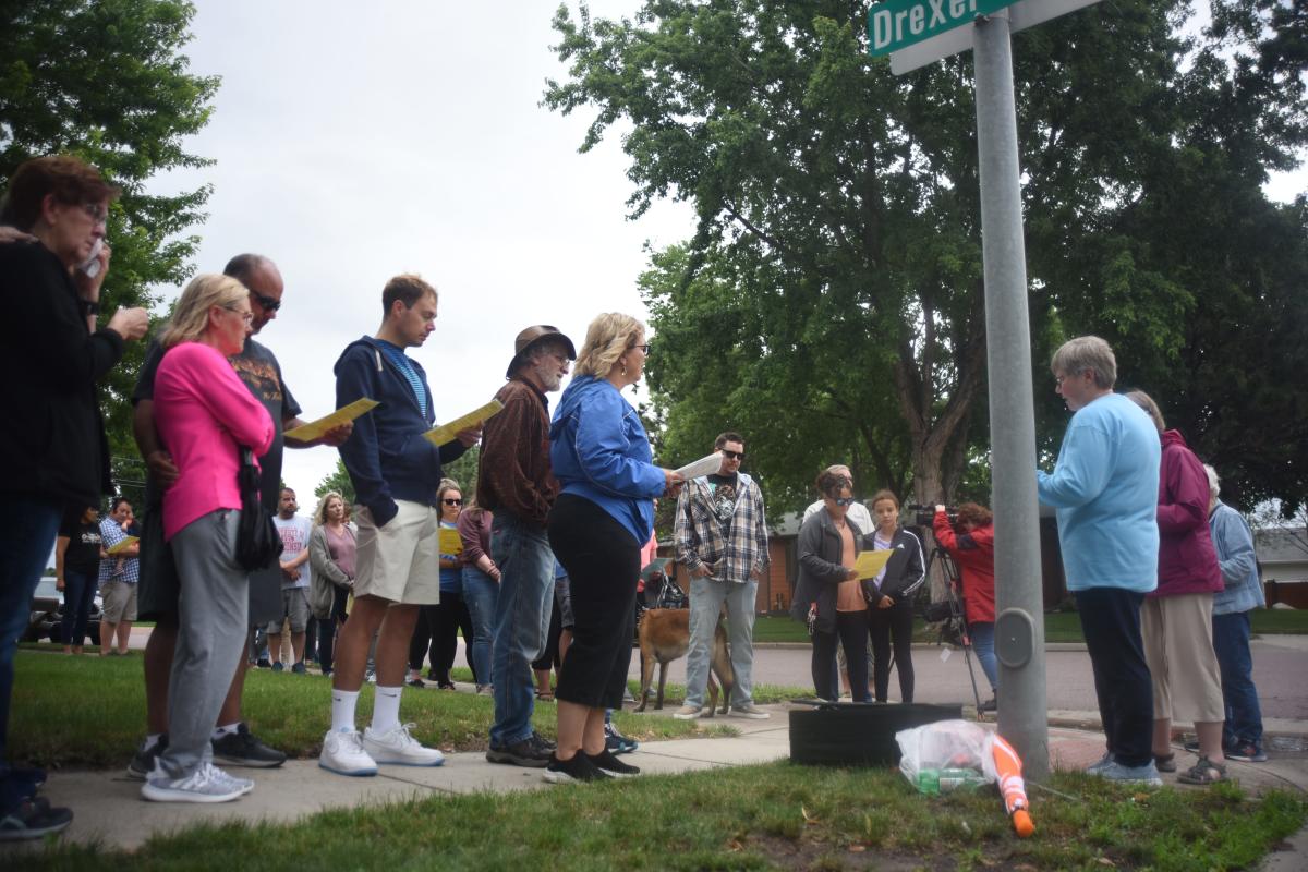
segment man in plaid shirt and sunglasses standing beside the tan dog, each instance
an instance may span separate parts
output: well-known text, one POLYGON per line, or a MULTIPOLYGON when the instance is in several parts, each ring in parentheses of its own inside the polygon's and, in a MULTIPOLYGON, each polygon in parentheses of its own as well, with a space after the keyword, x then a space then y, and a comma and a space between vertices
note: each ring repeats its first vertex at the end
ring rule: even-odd
POLYGON ((695 720, 704 707, 709 651, 723 604, 731 638, 735 688, 731 714, 763 719, 753 705, 753 614, 759 579, 768 566, 768 528, 763 492, 740 472, 744 439, 723 433, 713 443, 722 465, 692 478, 676 501, 676 560, 691 574, 691 650, 685 662, 685 705, 674 716, 695 720))

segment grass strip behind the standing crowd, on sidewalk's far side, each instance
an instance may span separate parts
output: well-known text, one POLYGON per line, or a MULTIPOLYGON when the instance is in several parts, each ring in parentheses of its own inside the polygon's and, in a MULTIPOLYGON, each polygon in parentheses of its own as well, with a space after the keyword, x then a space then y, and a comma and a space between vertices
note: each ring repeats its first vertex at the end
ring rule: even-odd
MULTIPOLYGON (((9 750, 13 760, 50 767, 118 767, 145 735, 141 656, 58 654, 55 646, 22 646, 14 663, 9 750), (37 650, 34 650, 37 648, 37 650)), ((471 675, 467 676, 471 679, 471 675)), ((634 690, 640 688, 636 686, 634 690)), ((259 737, 292 757, 315 757, 331 722, 331 679, 251 669, 243 697, 246 719, 259 737)), ((373 688, 358 697, 358 719, 373 713, 373 688)), ((484 750, 494 715, 488 696, 408 690, 403 716, 415 736, 445 750, 484 750)), ((735 735, 726 726, 615 711, 617 728, 640 741, 735 735)), ((556 735, 553 705, 536 706, 542 735, 556 735)))

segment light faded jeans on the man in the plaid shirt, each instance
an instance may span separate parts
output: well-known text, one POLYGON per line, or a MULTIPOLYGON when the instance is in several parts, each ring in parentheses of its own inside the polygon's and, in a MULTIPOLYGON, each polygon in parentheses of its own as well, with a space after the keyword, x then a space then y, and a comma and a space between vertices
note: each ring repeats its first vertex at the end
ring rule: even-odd
POLYGON ((713 634, 723 603, 727 607, 731 668, 735 671, 730 702, 734 706, 753 702, 753 612, 757 594, 759 582, 752 578, 743 584, 691 578, 691 650, 685 655, 685 705, 704 707, 713 634))

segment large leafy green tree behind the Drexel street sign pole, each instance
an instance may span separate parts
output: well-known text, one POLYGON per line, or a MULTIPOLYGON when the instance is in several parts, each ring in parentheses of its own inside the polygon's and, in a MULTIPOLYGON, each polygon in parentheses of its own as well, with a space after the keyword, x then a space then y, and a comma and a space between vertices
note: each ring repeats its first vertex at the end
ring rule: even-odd
MULTIPOLYGON (((1048 434, 1062 428, 1044 361, 1062 336, 1097 329, 1150 349, 1126 360, 1127 377, 1176 366, 1186 346, 1203 289, 1173 271, 1181 246, 1165 263, 1141 256, 1155 244, 1138 235, 1139 216, 1154 209, 1148 230, 1165 234, 1164 216, 1186 212, 1168 205, 1181 199, 1175 170, 1206 107, 1237 109, 1224 95, 1254 80, 1243 61, 1215 61, 1258 51, 1270 12, 1256 7, 1223 4, 1232 16, 1186 37, 1189 4, 1122 0, 1015 38, 1048 434)), ((666 442, 693 454, 710 431, 748 426, 756 468, 791 505, 837 459, 865 490, 910 481, 922 501, 959 493, 969 469, 986 478, 972 59, 895 77, 865 54, 865 12, 649 0, 634 20, 591 20, 585 5, 555 18, 569 77, 549 82, 547 105, 596 110, 582 150, 630 123, 633 216, 668 196, 698 216, 695 238, 658 252, 642 278, 666 442)), ((1265 170, 1301 146, 1301 106, 1292 89, 1258 97, 1236 119, 1261 126, 1250 163, 1265 170)), ((1252 174, 1230 182, 1261 197, 1252 174)))

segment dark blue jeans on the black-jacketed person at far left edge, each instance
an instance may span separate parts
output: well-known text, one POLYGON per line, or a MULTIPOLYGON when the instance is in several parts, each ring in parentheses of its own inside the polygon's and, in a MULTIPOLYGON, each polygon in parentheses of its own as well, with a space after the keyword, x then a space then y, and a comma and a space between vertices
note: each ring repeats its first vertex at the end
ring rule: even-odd
POLYGON ((0 526, 0 763, 9 744, 13 655, 31 620, 31 595, 55 546, 61 514, 58 502, 34 497, 10 497, 8 503, 9 523, 0 526))

